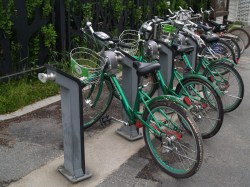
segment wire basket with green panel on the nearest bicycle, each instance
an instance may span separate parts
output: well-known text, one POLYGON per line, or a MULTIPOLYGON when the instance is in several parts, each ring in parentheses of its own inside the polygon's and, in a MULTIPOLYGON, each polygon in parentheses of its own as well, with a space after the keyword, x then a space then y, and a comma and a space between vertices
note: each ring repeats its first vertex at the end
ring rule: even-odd
POLYGON ((98 53, 84 47, 70 52, 72 74, 84 84, 98 84, 105 66, 105 59, 98 53))

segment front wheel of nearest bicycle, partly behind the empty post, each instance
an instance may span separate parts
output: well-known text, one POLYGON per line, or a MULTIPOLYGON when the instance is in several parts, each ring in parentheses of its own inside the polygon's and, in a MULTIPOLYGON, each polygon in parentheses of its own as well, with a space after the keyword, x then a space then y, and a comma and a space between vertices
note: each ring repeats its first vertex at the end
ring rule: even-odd
POLYGON ((96 85, 86 85, 82 89, 83 94, 83 119, 84 128, 96 123, 109 108, 113 99, 113 87, 108 79, 96 85))

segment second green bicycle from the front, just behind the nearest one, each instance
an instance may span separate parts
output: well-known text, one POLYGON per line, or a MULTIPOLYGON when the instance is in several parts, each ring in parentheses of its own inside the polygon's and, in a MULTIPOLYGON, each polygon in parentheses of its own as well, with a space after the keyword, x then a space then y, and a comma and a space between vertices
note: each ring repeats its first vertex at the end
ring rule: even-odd
MULTIPOLYGON (((158 43, 155 43, 154 41, 149 42, 152 48, 155 48, 158 45, 160 45, 162 48, 164 46, 167 47, 165 43, 160 41, 158 41, 158 43)), ((143 48, 140 49, 140 54, 143 54, 143 48)), ((178 52, 183 53, 182 50, 191 51, 193 49, 182 48, 178 50, 178 52)), ((140 61, 144 61, 144 63, 146 63, 144 56, 139 56, 137 58, 140 61)), ((185 54, 184 58, 187 58, 185 54)), ((161 61, 162 59, 164 58, 162 58, 160 55, 159 60, 156 61, 159 61, 160 64, 166 64, 166 62, 161 61)), ((224 116, 222 102, 218 93, 215 91, 216 88, 214 85, 211 85, 206 78, 192 74, 183 77, 178 72, 177 68, 172 68, 171 78, 168 85, 166 85, 166 81, 164 80, 161 71, 155 71, 151 74, 141 77, 141 82, 147 85, 145 88, 143 88, 143 91, 146 92, 150 97, 153 97, 158 88, 160 88, 163 94, 170 94, 177 97, 188 97, 191 101, 191 105, 193 106, 190 112, 200 129, 202 138, 211 138, 220 130, 224 116), (177 80, 178 83, 176 88, 174 88, 174 80, 177 80)))

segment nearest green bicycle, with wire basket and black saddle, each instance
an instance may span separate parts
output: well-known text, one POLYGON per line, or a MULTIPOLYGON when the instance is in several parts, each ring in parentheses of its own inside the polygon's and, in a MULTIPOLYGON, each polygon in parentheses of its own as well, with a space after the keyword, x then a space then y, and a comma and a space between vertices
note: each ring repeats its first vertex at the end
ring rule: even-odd
MULTIPOLYGON (((132 108, 128 104, 115 74, 118 63, 131 57, 128 57, 128 54, 117 47, 99 54, 92 51, 90 56, 89 53, 89 49, 86 48, 77 48, 70 53, 71 63, 73 63, 72 71, 83 81, 84 88, 91 92, 92 85, 102 84, 104 81, 108 82, 112 87, 112 91, 109 93, 117 95, 129 118, 128 122, 123 124, 135 125, 137 128, 143 127, 145 144, 160 168, 175 178, 187 178, 194 175, 202 163, 203 146, 198 128, 185 109, 188 106, 172 96, 159 96, 145 100, 142 92, 143 85, 139 84, 138 79, 139 86, 132 108), (85 53, 86 50, 87 53, 85 53), (93 58, 92 53, 98 57, 98 63, 96 63, 96 58, 93 58), (87 66, 85 62, 87 62, 87 66), (97 64, 106 65, 102 66, 103 69, 100 71, 98 69, 89 72, 91 63, 94 66, 97 64), (142 112, 139 107, 141 103, 144 106, 142 112)), ((160 65, 149 63, 145 66, 145 64, 136 61, 133 62, 133 67, 138 76, 143 76, 158 70, 160 65)), ((96 98, 95 101, 97 100, 96 98)))

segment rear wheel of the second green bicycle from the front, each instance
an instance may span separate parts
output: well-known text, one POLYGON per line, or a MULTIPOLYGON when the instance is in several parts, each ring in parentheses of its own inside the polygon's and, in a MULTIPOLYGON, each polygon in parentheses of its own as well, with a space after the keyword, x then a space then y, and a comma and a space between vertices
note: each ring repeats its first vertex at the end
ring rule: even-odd
POLYGON ((193 108, 191 114, 198 125, 202 138, 214 136, 223 122, 223 106, 211 85, 199 78, 184 79, 176 87, 180 96, 188 96, 193 108))

